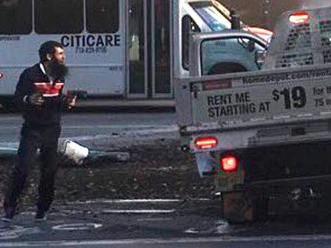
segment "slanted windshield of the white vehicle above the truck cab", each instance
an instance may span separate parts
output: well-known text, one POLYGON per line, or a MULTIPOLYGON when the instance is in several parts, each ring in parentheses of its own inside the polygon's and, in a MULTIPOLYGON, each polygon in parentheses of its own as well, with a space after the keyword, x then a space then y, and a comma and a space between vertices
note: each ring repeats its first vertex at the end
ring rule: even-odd
POLYGON ((230 11, 217 1, 198 1, 190 6, 213 31, 231 28, 230 11))

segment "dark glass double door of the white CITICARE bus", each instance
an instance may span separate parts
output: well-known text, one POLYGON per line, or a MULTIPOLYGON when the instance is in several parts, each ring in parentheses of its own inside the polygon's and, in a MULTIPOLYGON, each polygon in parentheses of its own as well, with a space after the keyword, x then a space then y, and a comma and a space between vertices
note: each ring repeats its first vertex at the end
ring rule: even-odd
POLYGON ((129 98, 171 98, 170 4, 129 1, 129 98))

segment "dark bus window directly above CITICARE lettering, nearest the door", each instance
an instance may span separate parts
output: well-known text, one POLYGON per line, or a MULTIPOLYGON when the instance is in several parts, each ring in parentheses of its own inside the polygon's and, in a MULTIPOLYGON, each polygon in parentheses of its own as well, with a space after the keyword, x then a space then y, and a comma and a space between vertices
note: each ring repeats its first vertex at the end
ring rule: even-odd
POLYGON ((116 33, 119 28, 119 0, 86 0, 86 28, 89 33, 116 33))

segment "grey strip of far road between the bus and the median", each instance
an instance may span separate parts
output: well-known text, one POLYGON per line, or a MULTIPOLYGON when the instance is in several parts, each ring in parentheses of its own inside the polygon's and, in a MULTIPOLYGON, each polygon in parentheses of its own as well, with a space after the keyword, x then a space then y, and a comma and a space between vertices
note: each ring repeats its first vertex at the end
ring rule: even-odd
MULTIPOLYGON (((22 121, 19 114, 0 114, 0 147, 17 147, 22 121)), ((175 125, 174 113, 65 114, 61 138, 89 145, 112 134, 174 131, 175 125)))

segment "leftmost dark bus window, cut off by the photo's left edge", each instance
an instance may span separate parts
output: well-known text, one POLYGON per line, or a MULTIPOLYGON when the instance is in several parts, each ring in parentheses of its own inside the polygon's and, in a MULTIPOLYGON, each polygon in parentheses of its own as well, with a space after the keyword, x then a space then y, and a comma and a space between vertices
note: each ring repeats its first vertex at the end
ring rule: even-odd
POLYGON ((0 34, 26 35, 32 30, 32 0, 0 0, 0 34))

